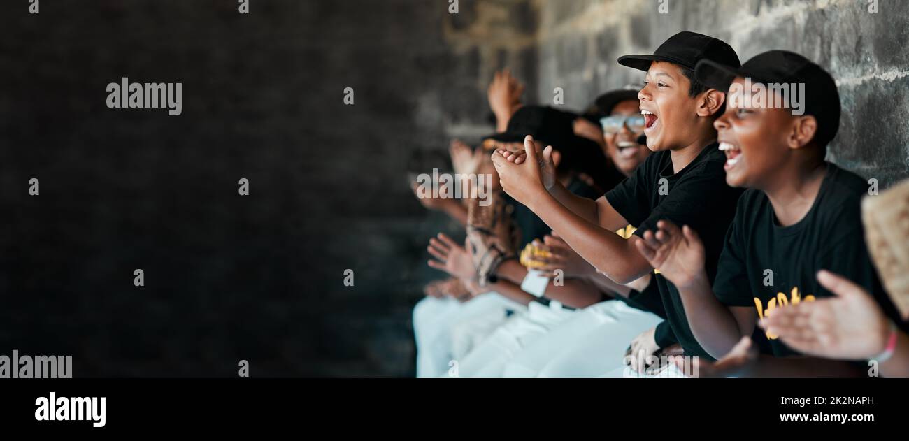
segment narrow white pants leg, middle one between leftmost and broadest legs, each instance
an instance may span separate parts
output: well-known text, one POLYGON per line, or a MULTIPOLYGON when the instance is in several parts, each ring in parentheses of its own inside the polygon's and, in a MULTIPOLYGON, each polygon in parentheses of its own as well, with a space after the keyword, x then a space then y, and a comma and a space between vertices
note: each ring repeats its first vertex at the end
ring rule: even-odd
MULTIPOLYGON (((524 347, 544 336, 554 326, 577 314, 574 311, 532 302, 527 314, 508 318, 464 359, 456 360, 457 376, 499 377, 504 366, 524 347)), ((447 373, 445 376, 448 376, 447 373)))

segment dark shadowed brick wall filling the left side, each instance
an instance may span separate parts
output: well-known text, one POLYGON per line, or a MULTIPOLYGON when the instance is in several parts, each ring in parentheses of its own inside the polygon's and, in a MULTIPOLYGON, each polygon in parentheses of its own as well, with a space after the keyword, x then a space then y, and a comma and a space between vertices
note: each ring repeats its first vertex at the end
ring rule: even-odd
POLYGON ((536 64, 526 2, 447 6, 4 2, 0 353, 73 355, 75 376, 412 375, 425 241, 453 226, 406 173, 490 129, 495 68, 536 64), (122 76, 183 83, 183 115, 107 109, 122 76))

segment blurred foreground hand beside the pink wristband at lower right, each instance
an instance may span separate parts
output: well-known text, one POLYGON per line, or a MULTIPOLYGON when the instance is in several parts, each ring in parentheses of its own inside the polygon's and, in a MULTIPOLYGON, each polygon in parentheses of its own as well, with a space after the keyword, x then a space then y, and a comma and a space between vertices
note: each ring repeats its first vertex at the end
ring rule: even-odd
POLYGON ((829 271, 818 272, 817 281, 836 296, 776 308, 760 326, 812 356, 862 360, 884 352, 890 322, 874 298, 829 271))

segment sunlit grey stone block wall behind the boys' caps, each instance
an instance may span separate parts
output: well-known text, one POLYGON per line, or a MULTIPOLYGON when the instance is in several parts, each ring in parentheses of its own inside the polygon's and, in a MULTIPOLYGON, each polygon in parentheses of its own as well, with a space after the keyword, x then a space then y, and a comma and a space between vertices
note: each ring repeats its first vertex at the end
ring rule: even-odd
POLYGON ((538 94, 563 87, 581 108, 643 75, 615 63, 694 31, 722 38, 744 62, 787 49, 830 71, 843 119, 830 159, 882 185, 909 176, 909 5, 879 0, 540 0, 538 94), (668 14, 660 6, 668 5, 668 14))

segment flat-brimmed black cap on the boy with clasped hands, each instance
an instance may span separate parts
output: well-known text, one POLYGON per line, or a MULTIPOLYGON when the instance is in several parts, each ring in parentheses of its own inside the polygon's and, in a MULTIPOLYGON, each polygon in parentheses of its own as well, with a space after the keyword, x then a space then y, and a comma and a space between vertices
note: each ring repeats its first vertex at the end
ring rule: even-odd
POLYGON ((732 46, 719 38, 695 32, 680 32, 669 37, 654 55, 624 55, 618 58, 620 65, 646 72, 654 61, 664 61, 694 70, 701 60, 709 59, 724 65, 741 65, 732 46))

